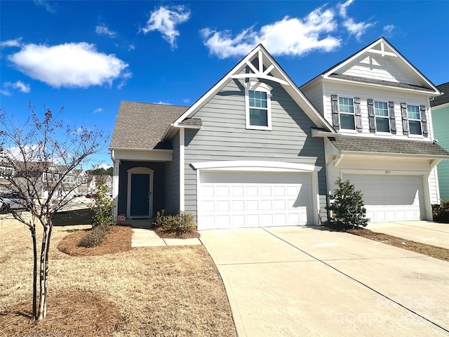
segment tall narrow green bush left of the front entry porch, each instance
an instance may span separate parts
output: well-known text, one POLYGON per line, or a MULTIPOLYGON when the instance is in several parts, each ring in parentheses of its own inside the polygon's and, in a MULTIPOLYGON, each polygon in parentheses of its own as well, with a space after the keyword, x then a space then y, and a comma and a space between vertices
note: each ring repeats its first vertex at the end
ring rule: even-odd
POLYGON ((105 182, 98 181, 95 204, 91 206, 93 211, 91 224, 93 227, 100 225, 114 225, 114 214, 112 213, 112 210, 114 209, 114 202, 107 195, 107 192, 105 182))

